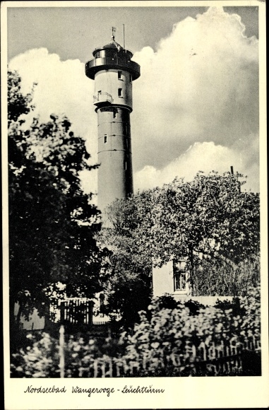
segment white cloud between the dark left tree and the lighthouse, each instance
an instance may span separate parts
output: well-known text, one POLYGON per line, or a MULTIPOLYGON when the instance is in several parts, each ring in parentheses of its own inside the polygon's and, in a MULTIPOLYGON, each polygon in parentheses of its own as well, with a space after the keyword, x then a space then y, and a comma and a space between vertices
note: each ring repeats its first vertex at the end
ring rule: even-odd
POLYGON ((89 152, 97 160, 97 119, 92 105, 94 83, 85 76, 84 64, 78 59, 61 61, 58 54, 49 54, 46 48, 41 48, 14 57, 9 68, 18 70, 25 93, 37 83, 32 103, 40 121, 49 121, 52 113, 66 115, 73 124, 73 131, 87 140, 89 152))

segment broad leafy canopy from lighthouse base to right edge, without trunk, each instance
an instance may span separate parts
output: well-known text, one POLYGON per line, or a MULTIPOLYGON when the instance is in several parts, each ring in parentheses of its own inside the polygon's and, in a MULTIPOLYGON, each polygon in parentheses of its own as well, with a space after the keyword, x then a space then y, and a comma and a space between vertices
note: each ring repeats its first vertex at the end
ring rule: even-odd
POLYGON ((118 201, 109 209, 114 230, 131 236, 162 266, 171 257, 220 256, 233 263, 258 254, 259 194, 241 192, 242 175, 198 172, 118 201))

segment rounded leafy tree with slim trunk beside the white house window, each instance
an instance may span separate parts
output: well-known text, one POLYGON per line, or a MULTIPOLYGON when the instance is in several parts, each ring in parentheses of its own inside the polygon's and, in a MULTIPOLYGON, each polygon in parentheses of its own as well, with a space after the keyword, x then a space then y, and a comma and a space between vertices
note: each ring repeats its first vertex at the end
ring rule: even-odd
POLYGON ((256 258, 259 195, 241 192, 240 177, 198 172, 192 182, 174 180, 155 190, 153 225, 147 236, 156 266, 171 257, 188 257, 193 286, 194 268, 201 266, 201 260, 237 266, 256 258))

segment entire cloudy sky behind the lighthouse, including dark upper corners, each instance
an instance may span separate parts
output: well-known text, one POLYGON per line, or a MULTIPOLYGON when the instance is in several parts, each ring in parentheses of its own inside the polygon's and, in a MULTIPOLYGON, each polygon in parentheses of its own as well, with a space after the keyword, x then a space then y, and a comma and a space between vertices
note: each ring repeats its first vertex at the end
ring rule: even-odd
MULTIPOLYGON (((245 189, 258 191, 256 6, 8 8, 8 64, 25 92, 38 83, 40 119, 66 114, 97 162, 94 84, 84 66, 112 25, 123 44, 123 23, 141 65, 131 114, 135 189, 233 165, 248 176, 245 189)), ((95 173, 83 175, 88 191, 97 190, 95 173)))

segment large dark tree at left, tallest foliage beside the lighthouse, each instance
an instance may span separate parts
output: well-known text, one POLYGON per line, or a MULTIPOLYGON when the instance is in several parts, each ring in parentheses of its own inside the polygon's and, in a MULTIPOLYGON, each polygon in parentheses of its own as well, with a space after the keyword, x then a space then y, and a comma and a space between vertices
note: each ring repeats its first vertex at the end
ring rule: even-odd
POLYGON ((33 307, 44 314, 52 296, 92 297, 104 253, 93 238, 99 211, 80 188, 80 171, 95 168, 84 141, 66 117, 51 115, 46 124, 34 118, 26 127, 31 102, 18 73, 8 72, 11 318, 16 302, 28 317, 33 307))

